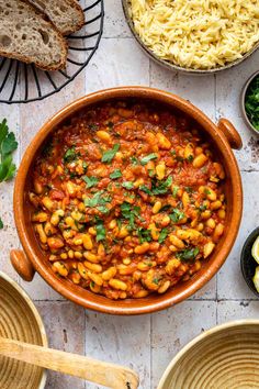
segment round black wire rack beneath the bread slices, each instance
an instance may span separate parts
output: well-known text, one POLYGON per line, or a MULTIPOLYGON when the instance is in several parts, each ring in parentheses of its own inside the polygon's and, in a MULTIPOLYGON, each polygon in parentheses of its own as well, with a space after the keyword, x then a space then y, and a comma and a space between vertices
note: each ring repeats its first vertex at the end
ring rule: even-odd
POLYGON ((43 100, 71 82, 98 49, 104 19, 104 0, 81 0, 83 27, 68 36, 66 70, 44 71, 33 64, 0 58, 0 102, 25 103, 43 100))

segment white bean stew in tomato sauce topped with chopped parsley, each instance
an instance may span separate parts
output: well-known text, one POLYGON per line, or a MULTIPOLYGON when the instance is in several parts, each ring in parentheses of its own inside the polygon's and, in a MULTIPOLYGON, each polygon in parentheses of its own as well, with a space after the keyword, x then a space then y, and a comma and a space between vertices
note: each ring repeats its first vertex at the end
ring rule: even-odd
POLYGON ((110 299, 165 293, 223 235, 224 178, 189 118, 105 102, 56 129, 38 154, 32 222, 58 277, 110 299))

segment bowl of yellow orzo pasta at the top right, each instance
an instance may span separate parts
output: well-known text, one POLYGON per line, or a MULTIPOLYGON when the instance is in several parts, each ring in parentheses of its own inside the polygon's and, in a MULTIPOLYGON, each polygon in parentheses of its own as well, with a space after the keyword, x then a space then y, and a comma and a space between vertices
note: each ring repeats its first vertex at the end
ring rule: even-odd
POLYGON ((257 0, 122 0, 144 52, 171 70, 203 75, 232 68, 259 46, 257 0))

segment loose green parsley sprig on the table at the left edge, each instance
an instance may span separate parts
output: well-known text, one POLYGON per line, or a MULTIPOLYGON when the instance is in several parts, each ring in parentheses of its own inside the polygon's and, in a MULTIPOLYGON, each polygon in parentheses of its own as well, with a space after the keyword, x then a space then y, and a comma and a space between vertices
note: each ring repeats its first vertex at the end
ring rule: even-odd
POLYGON ((16 167, 12 160, 12 153, 18 148, 13 132, 9 132, 7 119, 0 123, 0 182, 13 178, 16 167))

